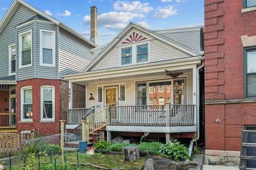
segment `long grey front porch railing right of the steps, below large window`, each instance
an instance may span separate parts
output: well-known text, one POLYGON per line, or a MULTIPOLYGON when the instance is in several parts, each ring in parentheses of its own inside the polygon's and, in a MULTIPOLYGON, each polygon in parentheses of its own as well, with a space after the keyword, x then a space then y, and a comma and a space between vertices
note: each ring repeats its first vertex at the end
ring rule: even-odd
POLYGON ((110 106, 109 125, 195 125, 195 105, 110 106))

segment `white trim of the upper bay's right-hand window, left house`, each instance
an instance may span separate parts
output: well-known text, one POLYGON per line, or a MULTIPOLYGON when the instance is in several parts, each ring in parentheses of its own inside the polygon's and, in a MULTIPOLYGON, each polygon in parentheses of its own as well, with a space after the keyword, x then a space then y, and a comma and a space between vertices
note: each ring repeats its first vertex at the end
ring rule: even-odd
POLYGON ((52 30, 44 30, 44 29, 40 29, 39 31, 39 65, 40 66, 48 66, 48 67, 55 67, 55 58, 56 58, 56 54, 55 54, 55 51, 56 51, 56 41, 55 41, 55 31, 52 31, 52 30), (52 64, 44 64, 43 63, 43 32, 46 32, 46 33, 52 33, 52 64))

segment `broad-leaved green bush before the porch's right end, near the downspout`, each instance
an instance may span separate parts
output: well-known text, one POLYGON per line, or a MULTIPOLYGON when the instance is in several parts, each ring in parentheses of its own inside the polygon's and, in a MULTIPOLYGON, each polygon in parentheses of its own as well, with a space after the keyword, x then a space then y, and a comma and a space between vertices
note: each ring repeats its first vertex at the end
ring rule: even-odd
POLYGON ((177 162, 189 159, 188 148, 184 145, 180 145, 180 142, 167 143, 159 148, 159 152, 177 162))

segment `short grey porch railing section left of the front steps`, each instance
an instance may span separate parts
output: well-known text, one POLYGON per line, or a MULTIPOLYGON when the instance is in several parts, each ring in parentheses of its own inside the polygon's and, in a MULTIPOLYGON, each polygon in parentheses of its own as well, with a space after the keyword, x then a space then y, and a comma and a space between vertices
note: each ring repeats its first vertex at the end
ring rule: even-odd
POLYGON ((87 116, 94 114, 94 108, 74 108, 68 109, 68 124, 81 124, 87 116))

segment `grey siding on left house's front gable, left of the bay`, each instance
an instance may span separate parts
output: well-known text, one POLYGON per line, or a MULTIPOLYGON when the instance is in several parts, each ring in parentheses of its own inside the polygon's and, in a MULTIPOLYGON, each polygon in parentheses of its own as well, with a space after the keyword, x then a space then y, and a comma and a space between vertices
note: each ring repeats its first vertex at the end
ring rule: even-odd
POLYGON ((9 72, 9 45, 16 43, 16 28, 15 26, 25 22, 36 15, 35 12, 29 8, 20 5, 18 10, 14 13, 10 22, 6 25, 5 29, 0 35, 0 77, 8 76, 9 72))

